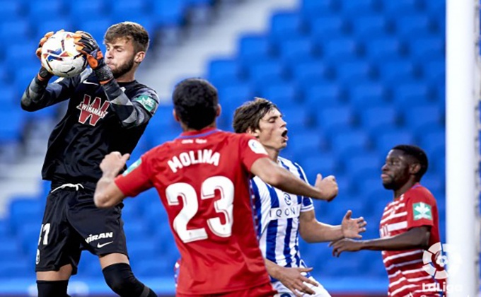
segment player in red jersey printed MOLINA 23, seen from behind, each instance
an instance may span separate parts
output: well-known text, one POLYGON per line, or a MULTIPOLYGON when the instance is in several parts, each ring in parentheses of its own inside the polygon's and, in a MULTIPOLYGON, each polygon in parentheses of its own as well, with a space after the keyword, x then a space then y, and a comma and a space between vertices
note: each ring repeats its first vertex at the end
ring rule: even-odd
POLYGON ((177 296, 273 296, 255 235, 251 173, 286 192, 327 200, 337 194, 334 177, 319 175, 311 187, 271 161, 253 136, 216 129, 220 105, 207 81, 180 82, 173 103, 184 132, 118 177, 129 156, 105 156, 95 204, 114 206, 156 187, 182 257, 177 296))

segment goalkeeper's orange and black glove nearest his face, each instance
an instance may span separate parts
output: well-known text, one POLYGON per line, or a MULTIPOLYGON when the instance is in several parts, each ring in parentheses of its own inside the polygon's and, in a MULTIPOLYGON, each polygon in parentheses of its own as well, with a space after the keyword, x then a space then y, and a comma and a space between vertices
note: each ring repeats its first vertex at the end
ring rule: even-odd
POLYGON ((88 64, 91 66, 97 76, 100 84, 104 85, 114 78, 112 70, 105 64, 102 51, 95 39, 89 33, 77 31, 74 34, 74 42, 77 45, 76 50, 86 56, 88 64))

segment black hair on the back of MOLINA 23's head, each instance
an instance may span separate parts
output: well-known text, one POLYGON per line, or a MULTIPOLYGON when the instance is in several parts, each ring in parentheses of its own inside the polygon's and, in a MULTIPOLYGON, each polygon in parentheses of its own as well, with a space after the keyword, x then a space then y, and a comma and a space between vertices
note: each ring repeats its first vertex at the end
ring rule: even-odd
POLYGON ((187 78, 175 86, 174 110, 182 123, 200 130, 216 120, 219 98, 214 86, 202 78, 187 78))

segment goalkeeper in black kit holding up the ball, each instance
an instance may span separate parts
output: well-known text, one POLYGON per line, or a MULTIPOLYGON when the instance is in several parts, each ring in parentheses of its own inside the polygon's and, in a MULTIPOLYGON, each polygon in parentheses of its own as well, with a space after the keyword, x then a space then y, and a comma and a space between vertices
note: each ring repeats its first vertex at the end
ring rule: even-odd
MULTIPOLYGON (((40 40, 37 54, 52 34, 40 40)), ((156 92, 134 77, 149 47, 149 34, 137 23, 112 25, 105 33, 105 58, 88 33, 78 31, 74 38, 91 68, 49 83, 52 74, 42 67, 21 99, 23 110, 30 112, 69 100, 50 135, 42 168, 52 190, 37 250, 38 296, 67 296, 81 250, 98 255, 105 281, 115 293, 156 296, 132 274, 122 205, 100 210, 93 203, 103 156, 131 153, 158 106, 156 92)))

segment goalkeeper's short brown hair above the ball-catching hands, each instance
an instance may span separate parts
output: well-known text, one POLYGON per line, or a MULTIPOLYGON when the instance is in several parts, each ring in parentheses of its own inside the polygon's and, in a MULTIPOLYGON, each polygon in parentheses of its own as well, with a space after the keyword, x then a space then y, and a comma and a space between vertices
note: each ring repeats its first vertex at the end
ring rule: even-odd
POLYGON ((105 32, 103 40, 105 43, 111 43, 118 38, 132 40, 136 54, 137 52, 147 52, 149 48, 149 33, 138 23, 122 22, 111 25, 105 32))

